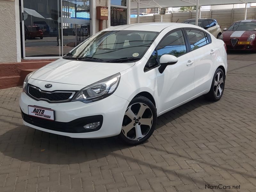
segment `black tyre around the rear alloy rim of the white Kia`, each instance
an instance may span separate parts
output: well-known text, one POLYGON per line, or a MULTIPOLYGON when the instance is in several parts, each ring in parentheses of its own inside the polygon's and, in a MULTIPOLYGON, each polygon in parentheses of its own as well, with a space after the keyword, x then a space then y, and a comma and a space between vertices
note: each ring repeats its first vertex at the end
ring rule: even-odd
POLYGON ((214 76, 212 78, 212 85, 211 85, 211 89, 208 93, 206 93, 204 96, 206 99, 210 100, 210 101, 218 101, 220 100, 220 98, 222 97, 223 95, 223 92, 224 92, 224 88, 225 88, 225 74, 223 72, 223 70, 221 68, 217 68, 217 70, 215 71, 214 73, 214 76), (223 78, 223 85, 222 84, 219 84, 220 87, 222 87, 222 92, 220 93, 220 95, 215 95, 215 91, 217 89, 217 86, 214 86, 214 82, 215 82, 215 78, 216 78, 216 75, 218 73, 221 73, 221 76, 223 78))

